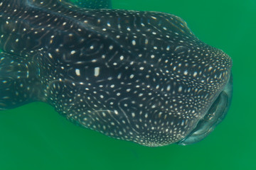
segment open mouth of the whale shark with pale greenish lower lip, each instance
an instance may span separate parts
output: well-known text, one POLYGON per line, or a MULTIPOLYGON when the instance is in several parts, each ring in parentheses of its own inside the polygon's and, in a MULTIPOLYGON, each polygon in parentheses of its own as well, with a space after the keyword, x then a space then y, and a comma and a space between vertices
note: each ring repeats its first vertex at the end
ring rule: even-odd
POLYGON ((199 120, 196 128, 194 128, 183 140, 180 140, 178 145, 190 145, 200 142, 207 137, 214 128, 223 121, 228 113, 233 94, 233 76, 230 74, 230 79, 225 85, 223 91, 210 106, 206 115, 199 120))

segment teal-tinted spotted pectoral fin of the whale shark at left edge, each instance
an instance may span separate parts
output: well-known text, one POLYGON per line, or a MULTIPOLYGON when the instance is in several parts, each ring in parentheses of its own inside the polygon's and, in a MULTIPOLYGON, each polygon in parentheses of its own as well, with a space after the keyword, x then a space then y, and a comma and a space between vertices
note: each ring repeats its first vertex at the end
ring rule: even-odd
POLYGON ((36 67, 25 57, 0 52, 0 110, 37 101, 41 85, 36 67))

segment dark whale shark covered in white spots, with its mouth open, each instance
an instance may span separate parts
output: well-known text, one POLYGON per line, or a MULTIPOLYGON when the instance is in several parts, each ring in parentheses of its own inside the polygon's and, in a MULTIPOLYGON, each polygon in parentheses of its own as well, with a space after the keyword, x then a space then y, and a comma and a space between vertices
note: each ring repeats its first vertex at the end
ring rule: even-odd
POLYGON ((0 110, 43 101, 144 146, 202 140, 230 107, 230 57, 178 16, 105 2, 0 1, 0 110))

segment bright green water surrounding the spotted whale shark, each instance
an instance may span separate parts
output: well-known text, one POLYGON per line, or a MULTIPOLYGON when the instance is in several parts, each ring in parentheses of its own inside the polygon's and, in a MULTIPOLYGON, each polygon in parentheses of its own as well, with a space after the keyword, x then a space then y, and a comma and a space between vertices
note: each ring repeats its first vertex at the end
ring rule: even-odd
POLYGON ((114 8, 181 16, 233 58, 230 111, 195 145, 149 148, 69 123, 45 103, 0 113, 0 169, 256 169, 256 1, 116 0, 114 8))

